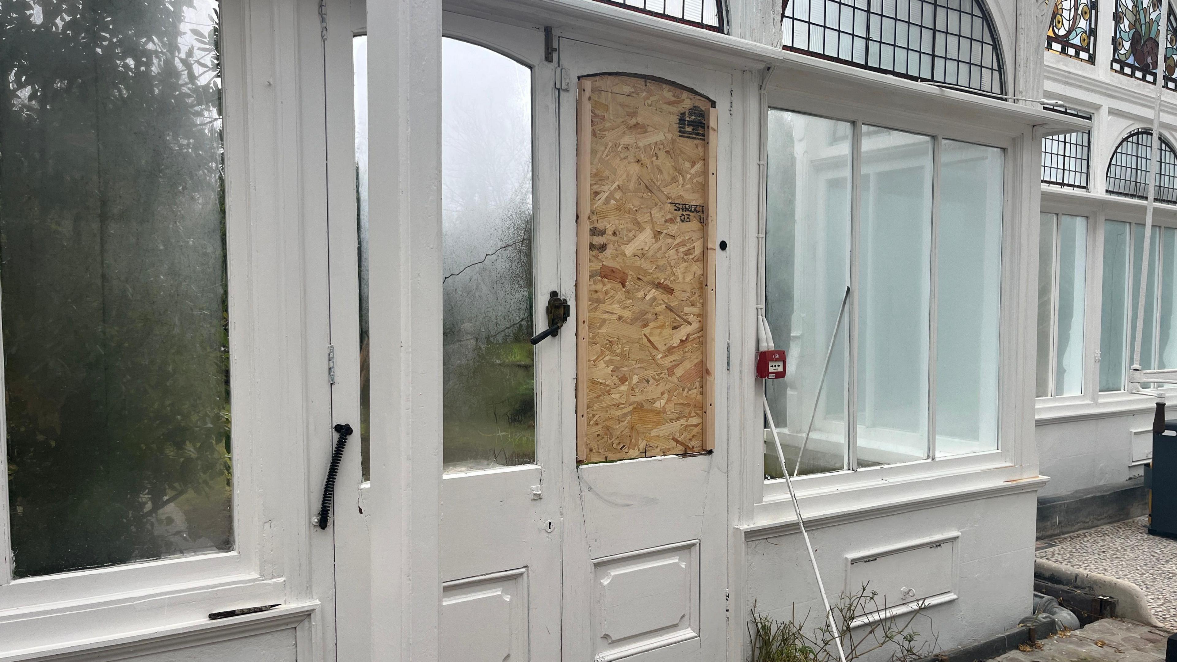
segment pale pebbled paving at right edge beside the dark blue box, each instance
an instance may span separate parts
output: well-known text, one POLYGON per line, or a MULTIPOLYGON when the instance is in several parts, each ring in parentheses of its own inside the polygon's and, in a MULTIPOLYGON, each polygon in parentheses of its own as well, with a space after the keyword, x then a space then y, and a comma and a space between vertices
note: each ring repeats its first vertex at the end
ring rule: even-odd
POLYGON ((1150 536, 1146 517, 1044 541, 1037 556, 1141 587, 1152 616, 1177 630, 1177 541, 1150 536))

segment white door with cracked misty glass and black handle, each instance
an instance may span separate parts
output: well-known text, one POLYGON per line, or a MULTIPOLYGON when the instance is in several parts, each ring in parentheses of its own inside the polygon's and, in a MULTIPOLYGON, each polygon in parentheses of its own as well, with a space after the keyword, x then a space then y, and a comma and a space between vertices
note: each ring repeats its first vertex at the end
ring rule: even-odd
POLYGON ((443 662, 559 658, 556 75, 544 32, 446 14, 443 662))

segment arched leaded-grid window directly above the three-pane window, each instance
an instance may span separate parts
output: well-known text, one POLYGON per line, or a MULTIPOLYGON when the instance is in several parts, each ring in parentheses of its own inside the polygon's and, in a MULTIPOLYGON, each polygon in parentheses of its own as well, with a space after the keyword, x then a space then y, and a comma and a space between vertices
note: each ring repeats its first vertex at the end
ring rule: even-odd
POLYGON ((1000 94, 1002 48, 982 0, 784 0, 784 46, 871 71, 1000 94))

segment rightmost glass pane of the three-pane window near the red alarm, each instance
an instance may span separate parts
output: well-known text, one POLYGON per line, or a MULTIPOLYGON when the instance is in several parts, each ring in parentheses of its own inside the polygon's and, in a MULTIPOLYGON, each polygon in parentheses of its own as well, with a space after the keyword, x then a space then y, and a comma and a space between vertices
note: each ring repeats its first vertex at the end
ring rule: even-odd
POLYGON ((1005 152, 944 140, 936 240, 936 455, 997 450, 1005 152))

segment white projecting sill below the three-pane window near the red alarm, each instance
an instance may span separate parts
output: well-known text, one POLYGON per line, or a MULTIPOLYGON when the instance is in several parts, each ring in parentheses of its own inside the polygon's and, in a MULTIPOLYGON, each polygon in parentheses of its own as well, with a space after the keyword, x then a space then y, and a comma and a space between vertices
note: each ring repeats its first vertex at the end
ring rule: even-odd
MULTIPOLYGON (((1022 475, 1022 468, 996 463, 940 474, 919 472, 903 477, 880 475, 877 479, 853 485, 836 485, 806 490, 798 485, 807 529, 836 527, 862 519, 925 510, 940 505, 990 498, 1009 494, 1037 491, 1050 478, 1022 475)), ((798 530, 789 494, 765 495, 753 507, 753 522, 738 527, 745 541, 789 535, 798 530)))

